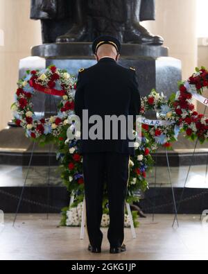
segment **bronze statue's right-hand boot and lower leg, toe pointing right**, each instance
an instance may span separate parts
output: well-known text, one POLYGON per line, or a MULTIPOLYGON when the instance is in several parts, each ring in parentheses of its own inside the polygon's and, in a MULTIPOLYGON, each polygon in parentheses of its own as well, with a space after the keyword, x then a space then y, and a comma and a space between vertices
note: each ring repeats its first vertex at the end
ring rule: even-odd
POLYGON ((132 44, 162 45, 164 39, 149 33, 146 28, 139 24, 141 0, 125 0, 127 19, 125 24, 124 42, 132 44))

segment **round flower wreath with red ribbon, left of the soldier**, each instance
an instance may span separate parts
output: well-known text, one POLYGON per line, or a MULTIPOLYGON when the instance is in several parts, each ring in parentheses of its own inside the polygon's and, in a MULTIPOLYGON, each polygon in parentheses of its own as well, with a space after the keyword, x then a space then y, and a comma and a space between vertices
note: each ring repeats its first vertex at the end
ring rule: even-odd
POLYGON ((65 69, 57 69, 54 65, 42 71, 26 71, 27 75, 18 81, 15 103, 12 104, 14 122, 26 130, 26 136, 45 141, 46 137, 58 137, 62 126, 67 124, 67 117, 73 112, 74 89, 76 78, 70 76, 65 69), (32 99, 36 92, 61 96, 58 114, 50 118, 40 119, 33 111, 32 99))

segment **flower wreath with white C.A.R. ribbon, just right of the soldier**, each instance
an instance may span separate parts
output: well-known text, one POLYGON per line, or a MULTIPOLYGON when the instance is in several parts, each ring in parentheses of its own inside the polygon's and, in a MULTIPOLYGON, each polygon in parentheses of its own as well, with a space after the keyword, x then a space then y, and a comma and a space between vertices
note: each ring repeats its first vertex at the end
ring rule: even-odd
POLYGON ((155 89, 141 100, 142 129, 144 135, 148 133, 152 139, 152 151, 157 150, 159 146, 171 148, 171 142, 177 141, 180 127, 177 125, 177 115, 172 100, 172 98, 167 100, 164 94, 158 94, 155 89), (144 118, 149 110, 156 113, 158 120, 144 118))

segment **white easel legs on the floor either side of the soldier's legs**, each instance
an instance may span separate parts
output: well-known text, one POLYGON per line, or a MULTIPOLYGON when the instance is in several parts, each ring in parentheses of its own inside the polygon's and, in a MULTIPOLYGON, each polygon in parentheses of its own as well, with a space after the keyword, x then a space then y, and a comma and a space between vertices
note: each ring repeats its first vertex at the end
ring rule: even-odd
MULTIPOLYGON (((70 206, 73 204, 73 200, 74 200, 74 195, 71 196, 70 206)), ((132 232, 132 238, 136 239, 137 234, 136 234, 136 231, 135 231, 135 225, 134 225, 133 218, 132 218, 132 212, 131 212, 131 209, 130 209, 130 204, 125 203, 125 207, 127 209, 128 217, 130 219, 130 228, 131 228, 131 232, 132 232)), ((82 221, 81 221, 81 228, 80 228, 80 240, 85 239, 85 226, 86 226, 86 204, 85 204, 85 198, 84 198, 84 200, 83 200, 83 211, 82 211, 82 221)))

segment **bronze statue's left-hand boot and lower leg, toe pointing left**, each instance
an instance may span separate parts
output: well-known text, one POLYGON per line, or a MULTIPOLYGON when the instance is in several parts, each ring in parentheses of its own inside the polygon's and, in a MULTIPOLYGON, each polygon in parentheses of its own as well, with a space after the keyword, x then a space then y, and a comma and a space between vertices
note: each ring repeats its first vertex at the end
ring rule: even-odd
POLYGON ((87 36, 87 16, 86 5, 87 1, 74 1, 74 24, 71 29, 65 34, 56 39, 56 42, 82 42, 87 36))

